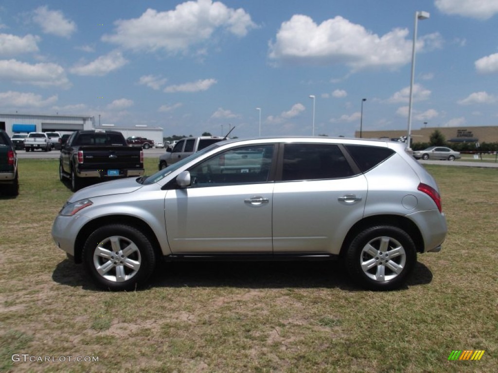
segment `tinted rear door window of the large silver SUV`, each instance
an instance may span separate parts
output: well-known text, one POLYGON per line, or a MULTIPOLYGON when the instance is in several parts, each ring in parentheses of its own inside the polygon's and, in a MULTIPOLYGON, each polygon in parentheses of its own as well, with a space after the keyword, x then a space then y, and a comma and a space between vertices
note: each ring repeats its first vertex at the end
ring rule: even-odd
POLYGON ((282 180, 337 179, 353 176, 337 145, 285 144, 282 180))

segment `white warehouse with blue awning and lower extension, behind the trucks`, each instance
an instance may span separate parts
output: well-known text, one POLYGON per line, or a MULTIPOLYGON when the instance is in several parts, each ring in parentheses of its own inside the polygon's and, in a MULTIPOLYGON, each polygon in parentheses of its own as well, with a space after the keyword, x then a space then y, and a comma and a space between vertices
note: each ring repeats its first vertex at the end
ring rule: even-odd
POLYGON ((45 114, 8 114, 0 113, 0 129, 11 137, 14 133, 28 132, 60 132, 71 133, 78 130, 102 129, 123 133, 124 137, 140 136, 163 141, 161 127, 148 127, 138 124, 134 127, 120 127, 114 124, 96 125, 95 117, 90 115, 45 115, 45 114))

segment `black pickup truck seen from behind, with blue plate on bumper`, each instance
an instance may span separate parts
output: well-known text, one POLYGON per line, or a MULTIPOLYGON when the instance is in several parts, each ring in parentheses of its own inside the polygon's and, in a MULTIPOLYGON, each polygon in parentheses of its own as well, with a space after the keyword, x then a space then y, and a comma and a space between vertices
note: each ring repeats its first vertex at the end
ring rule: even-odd
POLYGON ((71 190, 83 180, 109 181, 143 175, 143 151, 126 145, 118 131, 76 131, 61 149, 59 177, 71 181, 71 190))

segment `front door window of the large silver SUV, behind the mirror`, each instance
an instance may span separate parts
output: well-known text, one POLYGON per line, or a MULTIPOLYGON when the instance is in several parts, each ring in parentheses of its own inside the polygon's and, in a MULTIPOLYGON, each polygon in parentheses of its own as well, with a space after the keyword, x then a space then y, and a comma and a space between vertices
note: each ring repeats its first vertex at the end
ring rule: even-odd
POLYGON ((273 152, 273 145, 261 145, 217 154, 189 170, 192 187, 267 182, 273 152))

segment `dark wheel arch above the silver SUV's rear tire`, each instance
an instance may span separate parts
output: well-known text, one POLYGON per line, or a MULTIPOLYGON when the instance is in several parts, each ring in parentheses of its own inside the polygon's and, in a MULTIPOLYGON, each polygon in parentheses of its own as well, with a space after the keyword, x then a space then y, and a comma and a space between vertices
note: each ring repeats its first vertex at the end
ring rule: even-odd
POLYGON ((341 246, 340 255, 343 256, 348 251, 351 242, 360 232, 367 228, 379 225, 391 225, 404 230, 413 240, 416 251, 418 253, 422 253, 424 251, 424 239, 422 237, 422 233, 413 221, 407 217, 398 215, 374 215, 358 221, 351 227, 341 246))

